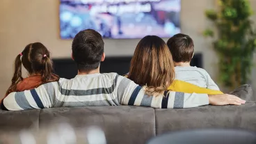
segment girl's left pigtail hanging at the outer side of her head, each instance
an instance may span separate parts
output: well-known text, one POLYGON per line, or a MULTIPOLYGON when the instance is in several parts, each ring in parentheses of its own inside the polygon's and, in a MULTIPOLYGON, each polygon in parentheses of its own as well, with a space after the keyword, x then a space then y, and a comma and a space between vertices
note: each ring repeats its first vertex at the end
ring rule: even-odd
POLYGON ((13 79, 12 79, 12 84, 11 86, 8 88, 6 95, 8 95, 9 93, 12 93, 14 91, 16 91, 17 89, 17 84, 23 80, 22 78, 22 61, 20 59, 20 57, 22 56, 22 54, 19 54, 16 58, 15 58, 15 72, 13 74, 13 79))

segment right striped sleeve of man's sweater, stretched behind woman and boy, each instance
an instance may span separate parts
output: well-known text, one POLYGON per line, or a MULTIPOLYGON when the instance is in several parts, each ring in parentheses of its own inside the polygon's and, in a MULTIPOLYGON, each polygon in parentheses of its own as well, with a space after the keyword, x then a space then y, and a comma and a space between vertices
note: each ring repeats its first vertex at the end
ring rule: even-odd
POLYGON ((145 95, 142 86, 138 86, 134 81, 125 77, 118 86, 118 100, 122 105, 149 106, 159 109, 191 108, 209 104, 207 94, 166 91, 164 95, 157 97, 145 95))

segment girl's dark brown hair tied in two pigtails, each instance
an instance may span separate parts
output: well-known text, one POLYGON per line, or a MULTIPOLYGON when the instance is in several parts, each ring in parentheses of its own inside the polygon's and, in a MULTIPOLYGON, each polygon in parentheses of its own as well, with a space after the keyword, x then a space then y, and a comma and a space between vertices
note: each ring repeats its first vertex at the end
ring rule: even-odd
POLYGON ((13 74, 12 84, 8 88, 7 93, 16 91, 17 84, 23 80, 22 65, 29 74, 38 74, 42 76, 42 83, 47 83, 55 79, 58 81, 58 76, 52 75, 53 65, 49 58, 49 51, 40 42, 26 45, 22 53, 18 54, 15 59, 15 72, 13 74), (22 58, 21 58, 22 57, 22 58), (57 78, 57 79, 56 79, 57 78))

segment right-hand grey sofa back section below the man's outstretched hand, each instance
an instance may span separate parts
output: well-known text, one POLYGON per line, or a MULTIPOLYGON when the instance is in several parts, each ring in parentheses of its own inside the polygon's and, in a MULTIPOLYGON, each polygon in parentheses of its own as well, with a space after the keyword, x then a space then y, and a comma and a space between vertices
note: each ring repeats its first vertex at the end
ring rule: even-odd
POLYGON ((256 102, 241 106, 200 106, 192 109, 155 109, 157 135, 200 128, 256 130, 256 102))

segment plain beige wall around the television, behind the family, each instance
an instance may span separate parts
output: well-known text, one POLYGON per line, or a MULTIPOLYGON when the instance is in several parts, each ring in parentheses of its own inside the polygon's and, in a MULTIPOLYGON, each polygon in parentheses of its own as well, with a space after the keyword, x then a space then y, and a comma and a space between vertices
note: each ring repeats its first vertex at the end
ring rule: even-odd
MULTIPOLYGON (((256 11, 256 1, 250 0, 256 11)), ((70 57, 72 40, 58 36, 58 0, 1 0, 0 1, 0 93, 10 85, 15 56, 30 42, 45 44, 54 58, 70 57)), ((211 49, 211 40, 202 31, 211 26, 204 15, 207 8, 216 8, 216 0, 182 0, 182 33, 195 42, 195 52, 202 52, 205 69, 217 77, 218 58, 211 49)), ((256 16, 253 17, 256 22, 256 16)), ((106 56, 127 56, 134 53, 138 40, 105 40, 106 56)), ((255 77, 256 70, 253 70, 255 77)), ((253 83, 256 87, 256 83, 253 83)), ((0 96, 1 97, 1 96, 0 96)))

